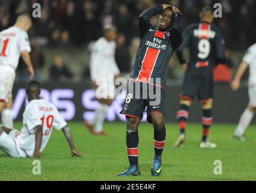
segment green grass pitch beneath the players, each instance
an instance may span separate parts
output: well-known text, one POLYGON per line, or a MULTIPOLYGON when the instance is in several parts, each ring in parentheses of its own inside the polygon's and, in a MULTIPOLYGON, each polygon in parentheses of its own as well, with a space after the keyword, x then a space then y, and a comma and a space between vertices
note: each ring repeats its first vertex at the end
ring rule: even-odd
MULTIPOLYGON (((183 148, 173 148, 178 136, 178 125, 167 124, 167 139, 163 152, 162 174, 150 173, 153 157, 153 128, 139 125, 139 167, 141 176, 117 177, 129 165, 126 154, 125 123, 109 123, 109 136, 92 136, 82 122, 69 122, 77 150, 83 157, 71 157, 62 131, 54 130, 46 149, 41 154, 40 175, 34 175, 31 158, 13 159, 0 152, 0 180, 256 180, 256 125, 246 130, 248 141, 235 141, 235 125, 214 124, 210 141, 213 150, 198 147, 202 128, 189 124, 188 139, 183 148), (214 160, 222 161, 222 175, 215 175, 214 160)), ((21 128, 21 122, 15 122, 21 128)))

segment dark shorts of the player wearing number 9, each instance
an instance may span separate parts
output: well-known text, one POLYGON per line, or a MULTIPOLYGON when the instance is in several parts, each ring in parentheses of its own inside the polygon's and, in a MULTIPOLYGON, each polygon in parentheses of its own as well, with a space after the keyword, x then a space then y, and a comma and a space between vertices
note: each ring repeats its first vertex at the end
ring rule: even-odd
POLYGON ((198 100, 205 103, 213 98, 213 92, 213 68, 211 66, 187 69, 180 98, 193 101, 194 96, 197 95, 198 100))

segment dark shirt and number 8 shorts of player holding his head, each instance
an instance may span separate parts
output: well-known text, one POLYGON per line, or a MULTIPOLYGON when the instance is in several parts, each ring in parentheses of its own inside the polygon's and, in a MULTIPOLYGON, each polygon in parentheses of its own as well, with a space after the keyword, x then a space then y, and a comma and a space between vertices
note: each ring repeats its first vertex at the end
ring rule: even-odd
POLYGON ((133 118, 142 118, 147 107, 147 121, 149 122, 151 122, 149 116, 151 113, 161 112, 164 114, 164 89, 168 74, 168 63, 182 43, 181 14, 175 13, 173 15, 171 27, 168 31, 159 31, 156 27, 150 25, 149 19, 162 13, 162 10, 162 5, 157 5, 144 11, 139 16, 141 42, 128 81, 123 110, 120 112, 133 118), (145 92, 148 96, 143 97, 145 92), (150 98, 152 92, 157 97, 160 96, 160 93, 160 98, 150 98), (135 93, 139 93, 140 96, 134 96, 135 93), (155 100, 159 103, 151 105, 150 102, 155 100))

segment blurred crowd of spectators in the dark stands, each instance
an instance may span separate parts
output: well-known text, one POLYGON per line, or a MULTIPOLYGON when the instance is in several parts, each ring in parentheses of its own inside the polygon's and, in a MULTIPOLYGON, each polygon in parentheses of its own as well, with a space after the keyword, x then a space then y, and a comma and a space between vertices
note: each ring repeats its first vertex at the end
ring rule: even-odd
MULTIPOLYGON (((216 19, 214 25, 222 30, 226 48, 245 51, 256 42, 255 0, 0 0, 0 31, 13 25, 19 14, 32 15, 32 4, 37 2, 42 6, 42 12, 40 18, 32 18, 33 27, 29 31, 31 60, 36 72, 46 69, 43 74, 47 73, 51 80, 78 81, 89 77, 89 54, 87 61, 79 64, 83 67, 75 71, 64 62, 66 49, 89 53, 91 43, 102 36, 106 24, 117 27, 116 61, 121 72, 129 74, 139 44, 137 18, 143 10, 156 4, 179 7, 184 13, 185 28, 199 22, 198 14, 203 6, 213 7, 219 2, 223 6, 223 17, 216 19), (53 49, 57 49, 58 54, 49 54, 49 57, 48 50, 53 49), (82 74, 78 74, 80 69, 83 69, 82 74)), ((152 19, 152 22, 157 21, 152 19)), ((170 68, 174 68, 173 63, 176 62, 170 61, 170 68)), ((27 80, 23 67, 19 65, 19 81, 27 80)), ((173 72, 170 72, 170 78, 179 78, 173 72)), ((37 78, 40 79, 39 74, 37 78)))

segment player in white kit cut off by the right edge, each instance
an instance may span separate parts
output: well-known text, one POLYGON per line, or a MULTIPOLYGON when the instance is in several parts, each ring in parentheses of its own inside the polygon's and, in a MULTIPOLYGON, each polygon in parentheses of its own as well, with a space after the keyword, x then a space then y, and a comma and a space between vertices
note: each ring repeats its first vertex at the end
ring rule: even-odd
POLYGON ((243 61, 238 67, 235 78, 232 81, 231 88, 232 90, 238 90, 240 86, 240 80, 245 73, 246 68, 249 66, 249 80, 248 80, 248 92, 249 92, 249 104, 243 112, 240 121, 237 125, 237 128, 234 133, 234 138, 245 141, 245 129, 251 123, 254 113, 256 112, 256 43, 249 47, 243 61))

